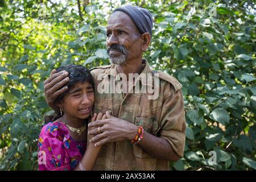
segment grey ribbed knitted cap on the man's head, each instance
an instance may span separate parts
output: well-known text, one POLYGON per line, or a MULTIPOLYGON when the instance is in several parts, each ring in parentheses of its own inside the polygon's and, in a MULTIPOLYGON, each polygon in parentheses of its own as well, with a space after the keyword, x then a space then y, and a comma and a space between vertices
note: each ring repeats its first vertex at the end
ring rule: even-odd
POLYGON ((115 11, 122 11, 123 13, 130 16, 131 20, 133 20, 139 32, 141 32, 141 34, 148 32, 152 39, 153 19, 150 11, 142 7, 133 6, 133 5, 118 7, 113 11, 113 13, 115 11))

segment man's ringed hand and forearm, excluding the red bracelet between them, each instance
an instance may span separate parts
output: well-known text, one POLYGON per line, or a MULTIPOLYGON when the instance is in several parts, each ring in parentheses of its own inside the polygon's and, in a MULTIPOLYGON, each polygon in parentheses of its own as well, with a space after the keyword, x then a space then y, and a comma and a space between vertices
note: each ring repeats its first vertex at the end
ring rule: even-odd
MULTIPOLYGON (((95 137, 89 140, 94 146, 101 146, 109 142, 121 142, 122 140, 132 140, 138 133, 138 126, 123 119, 115 118, 106 111, 107 119, 89 123, 89 134, 95 137), (101 133, 98 133, 100 127, 101 133)), ((144 151, 156 158, 163 160, 177 161, 180 156, 172 149, 170 143, 165 138, 156 137, 144 132, 144 138, 138 143, 144 151)))

